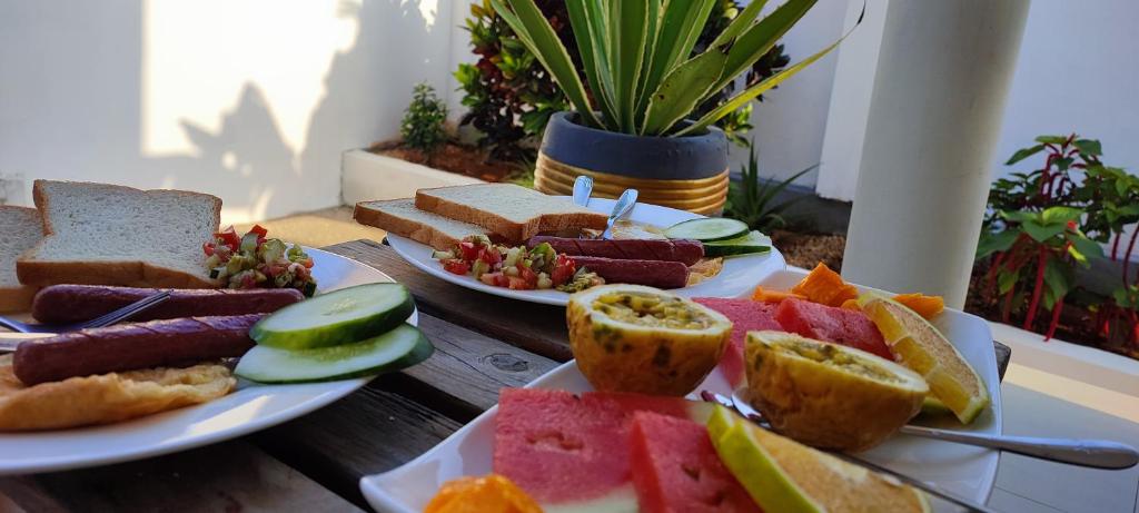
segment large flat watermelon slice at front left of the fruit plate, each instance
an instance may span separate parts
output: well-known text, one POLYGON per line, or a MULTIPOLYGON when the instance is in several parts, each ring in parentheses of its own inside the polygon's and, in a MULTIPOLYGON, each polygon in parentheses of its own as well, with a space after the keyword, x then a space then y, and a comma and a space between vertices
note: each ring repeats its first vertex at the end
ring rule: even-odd
POLYGON ((493 469, 547 511, 636 512, 629 459, 633 413, 706 422, 712 409, 670 397, 502 389, 493 469))

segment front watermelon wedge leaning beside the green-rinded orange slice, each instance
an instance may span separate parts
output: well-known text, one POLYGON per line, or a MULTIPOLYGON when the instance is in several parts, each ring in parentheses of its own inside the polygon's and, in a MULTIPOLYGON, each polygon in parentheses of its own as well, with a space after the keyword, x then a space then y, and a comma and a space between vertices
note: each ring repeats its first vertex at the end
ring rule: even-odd
POLYGON ((637 412, 630 446, 641 512, 760 512, 720 462, 703 424, 637 412))

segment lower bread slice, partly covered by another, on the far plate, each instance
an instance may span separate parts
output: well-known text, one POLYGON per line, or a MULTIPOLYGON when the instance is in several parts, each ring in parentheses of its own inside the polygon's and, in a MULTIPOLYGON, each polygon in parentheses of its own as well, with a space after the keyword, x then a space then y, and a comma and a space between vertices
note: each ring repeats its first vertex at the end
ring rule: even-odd
POLYGON ((385 229, 436 250, 450 250, 468 235, 490 235, 481 226, 456 221, 416 209, 415 199, 387 199, 357 203, 357 222, 385 229))

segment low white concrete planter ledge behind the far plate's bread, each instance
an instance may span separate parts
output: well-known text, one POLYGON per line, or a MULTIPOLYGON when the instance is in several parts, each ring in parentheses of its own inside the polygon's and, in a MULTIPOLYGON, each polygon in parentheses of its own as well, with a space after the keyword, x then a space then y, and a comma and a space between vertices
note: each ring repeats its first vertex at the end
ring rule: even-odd
POLYGON ((374 199, 412 197, 428 187, 483 184, 483 180, 440 171, 399 158, 350 149, 341 157, 342 197, 349 206, 374 199))

